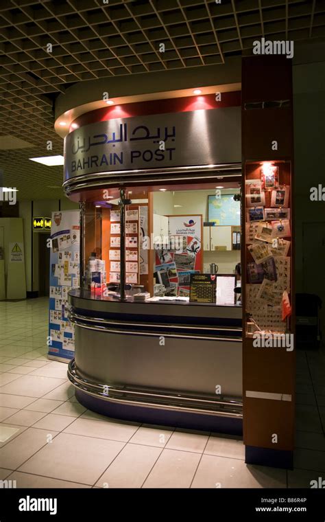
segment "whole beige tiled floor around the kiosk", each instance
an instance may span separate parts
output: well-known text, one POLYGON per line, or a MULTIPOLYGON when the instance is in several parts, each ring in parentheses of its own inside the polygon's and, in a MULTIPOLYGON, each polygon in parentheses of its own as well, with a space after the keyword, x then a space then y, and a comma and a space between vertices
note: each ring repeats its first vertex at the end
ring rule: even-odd
POLYGON ((47 359, 47 299, 0 302, 0 480, 18 488, 309 488, 325 477, 325 352, 298 352, 295 469, 238 438, 108 419, 47 359))

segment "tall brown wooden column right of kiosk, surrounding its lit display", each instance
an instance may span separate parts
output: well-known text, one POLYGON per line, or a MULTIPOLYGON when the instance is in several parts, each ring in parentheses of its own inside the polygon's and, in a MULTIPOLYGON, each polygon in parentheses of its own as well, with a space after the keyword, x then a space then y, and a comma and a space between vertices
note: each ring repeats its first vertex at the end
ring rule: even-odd
MULTIPOLYGON (((243 155, 243 436, 245 462, 291 468, 295 410, 296 346, 256 348, 248 334, 246 284, 247 264, 253 258, 245 238, 247 202, 245 179, 259 179, 261 163, 278 166, 280 184, 290 186, 292 315, 287 333, 294 334, 293 280, 293 117, 291 60, 280 56, 243 58, 242 66, 242 155, 243 155), (274 142, 277 142, 277 149, 274 142)), ((265 193, 265 207, 270 207, 265 193)), ((254 314, 253 314, 254 315, 254 314)), ((254 328, 254 327, 253 327, 254 328)))

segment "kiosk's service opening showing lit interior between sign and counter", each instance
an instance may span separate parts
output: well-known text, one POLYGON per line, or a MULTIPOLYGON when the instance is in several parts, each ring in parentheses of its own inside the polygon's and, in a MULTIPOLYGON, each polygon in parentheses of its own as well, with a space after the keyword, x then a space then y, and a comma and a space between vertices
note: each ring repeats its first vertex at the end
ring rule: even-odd
POLYGON ((139 302, 239 302, 240 179, 103 192, 84 203, 84 288, 139 302))

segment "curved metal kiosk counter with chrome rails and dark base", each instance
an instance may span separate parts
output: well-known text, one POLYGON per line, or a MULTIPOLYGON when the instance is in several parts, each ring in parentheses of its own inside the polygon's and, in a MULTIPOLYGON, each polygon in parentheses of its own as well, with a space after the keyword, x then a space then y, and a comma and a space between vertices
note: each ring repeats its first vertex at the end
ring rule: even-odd
POLYGON ((69 293, 78 400, 105 415, 241 433, 241 307, 69 293))

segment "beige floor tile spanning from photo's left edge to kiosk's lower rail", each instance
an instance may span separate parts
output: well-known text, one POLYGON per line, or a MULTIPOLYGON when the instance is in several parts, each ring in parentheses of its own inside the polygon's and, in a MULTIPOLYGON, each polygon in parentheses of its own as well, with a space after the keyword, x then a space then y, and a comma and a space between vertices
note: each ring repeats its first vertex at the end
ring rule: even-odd
POLYGON ((16 378, 16 375, 10 375, 14 376, 16 380, 13 383, 2 386, 1 393, 40 398, 64 383, 63 379, 58 378, 39 377, 36 375, 23 375, 16 378))

